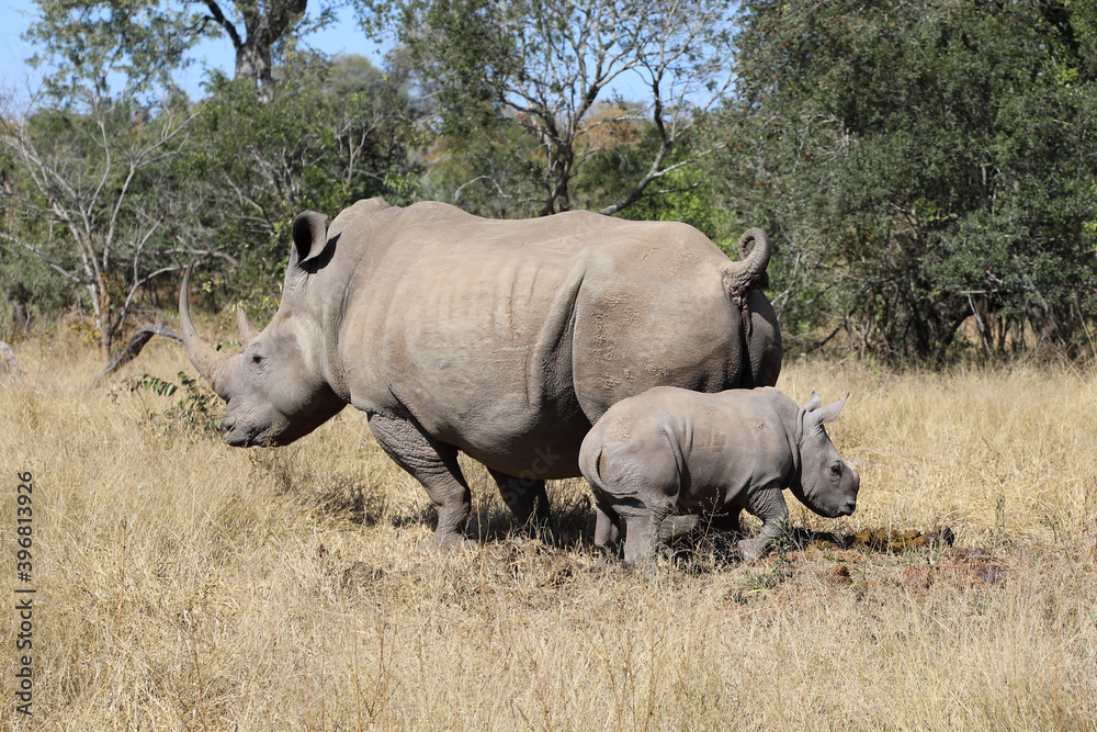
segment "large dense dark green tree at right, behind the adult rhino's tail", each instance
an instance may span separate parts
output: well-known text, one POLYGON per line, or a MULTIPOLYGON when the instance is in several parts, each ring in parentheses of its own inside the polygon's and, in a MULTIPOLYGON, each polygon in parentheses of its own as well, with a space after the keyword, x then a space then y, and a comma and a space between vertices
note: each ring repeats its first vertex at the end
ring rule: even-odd
POLYGON ((987 354, 1079 342, 1097 313, 1095 18, 1041 0, 744 5, 713 173, 777 234, 790 331, 930 362, 969 317, 987 354))

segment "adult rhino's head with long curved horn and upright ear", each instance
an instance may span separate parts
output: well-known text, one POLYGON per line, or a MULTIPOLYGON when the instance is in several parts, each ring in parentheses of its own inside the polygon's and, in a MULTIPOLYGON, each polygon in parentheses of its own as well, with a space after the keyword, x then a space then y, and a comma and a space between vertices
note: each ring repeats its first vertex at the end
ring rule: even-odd
POLYGON ((183 342, 191 363, 227 403, 222 429, 229 444, 289 444, 344 406, 325 378, 319 307, 308 299, 306 268, 315 268, 324 255, 325 216, 314 212, 297 216, 293 240, 274 318, 259 331, 242 311, 237 312, 241 353, 223 353, 199 337, 186 302, 190 268, 183 275, 179 293, 183 342))

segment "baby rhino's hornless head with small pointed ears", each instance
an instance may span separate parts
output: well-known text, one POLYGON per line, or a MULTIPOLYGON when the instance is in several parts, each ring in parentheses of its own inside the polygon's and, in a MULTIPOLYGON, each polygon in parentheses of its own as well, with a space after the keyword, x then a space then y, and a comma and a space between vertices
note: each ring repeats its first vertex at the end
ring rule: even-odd
POLYGON ((835 420, 847 398, 849 394, 823 407, 823 398, 812 392, 801 408, 800 486, 793 486, 792 492, 805 506, 827 518, 852 514, 861 486, 857 471, 842 461, 824 428, 835 420))

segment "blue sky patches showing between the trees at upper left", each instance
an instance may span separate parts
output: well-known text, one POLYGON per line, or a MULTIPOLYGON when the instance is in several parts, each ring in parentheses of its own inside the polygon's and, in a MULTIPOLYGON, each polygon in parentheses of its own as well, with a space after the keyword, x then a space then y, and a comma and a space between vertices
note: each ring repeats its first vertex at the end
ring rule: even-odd
MULTIPOLYGON (((0 88, 25 95, 27 88, 35 89, 42 80, 39 70, 26 65, 34 55, 34 46, 22 35, 31 24, 37 8, 31 0, 0 0, 0 29, 3 43, 0 48, 0 88)), ((359 54, 380 65, 384 49, 369 41, 354 23, 353 13, 342 9, 339 20, 331 26, 306 36, 304 44, 328 54, 359 54)), ((201 82, 207 68, 218 68, 231 76, 236 56, 227 37, 206 41, 194 49, 197 64, 183 71, 179 81, 192 99, 203 95, 201 82)), ((112 85, 113 86, 113 85, 112 85)))

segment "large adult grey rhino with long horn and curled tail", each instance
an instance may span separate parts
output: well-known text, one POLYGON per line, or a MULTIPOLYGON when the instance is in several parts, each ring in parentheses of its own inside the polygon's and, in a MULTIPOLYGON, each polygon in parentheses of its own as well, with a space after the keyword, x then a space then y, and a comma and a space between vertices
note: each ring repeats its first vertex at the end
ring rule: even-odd
POLYGON ((278 313, 240 318, 244 352, 181 331, 228 404, 235 446, 285 444, 352 404, 438 509, 434 543, 464 543, 457 451, 484 463, 521 522, 550 531, 545 478, 576 476, 610 405, 652 386, 776 383, 781 337, 755 288, 770 247, 728 260, 697 229, 587 212, 489 221, 441 203, 360 201, 325 229, 307 212, 278 313))

